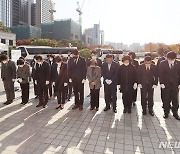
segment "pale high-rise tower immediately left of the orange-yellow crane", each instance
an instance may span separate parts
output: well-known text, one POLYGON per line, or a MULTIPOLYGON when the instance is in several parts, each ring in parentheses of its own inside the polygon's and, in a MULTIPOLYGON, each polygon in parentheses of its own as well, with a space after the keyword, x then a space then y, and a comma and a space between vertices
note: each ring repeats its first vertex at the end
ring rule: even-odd
POLYGON ((52 6, 52 0, 36 0, 36 26, 41 27, 41 24, 51 22, 51 13, 49 12, 52 6))

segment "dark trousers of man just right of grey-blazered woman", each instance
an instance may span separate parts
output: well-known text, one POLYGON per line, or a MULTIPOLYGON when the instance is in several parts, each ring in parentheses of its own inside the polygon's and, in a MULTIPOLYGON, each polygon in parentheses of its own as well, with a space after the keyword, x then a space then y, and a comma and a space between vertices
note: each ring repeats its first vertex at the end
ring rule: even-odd
POLYGON ((104 84, 104 94, 105 94, 105 102, 106 108, 110 108, 110 104, 112 104, 113 109, 116 109, 116 101, 117 101, 117 85, 108 85, 104 84))

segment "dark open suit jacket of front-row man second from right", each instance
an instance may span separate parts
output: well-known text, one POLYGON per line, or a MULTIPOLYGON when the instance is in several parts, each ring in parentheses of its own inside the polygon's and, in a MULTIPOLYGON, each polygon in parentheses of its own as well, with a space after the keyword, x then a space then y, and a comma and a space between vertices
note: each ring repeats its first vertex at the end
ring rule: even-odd
POLYGON ((146 87, 147 80, 150 86, 158 84, 157 67, 154 64, 151 64, 148 76, 145 64, 141 64, 138 68, 138 84, 141 84, 142 87, 146 87))

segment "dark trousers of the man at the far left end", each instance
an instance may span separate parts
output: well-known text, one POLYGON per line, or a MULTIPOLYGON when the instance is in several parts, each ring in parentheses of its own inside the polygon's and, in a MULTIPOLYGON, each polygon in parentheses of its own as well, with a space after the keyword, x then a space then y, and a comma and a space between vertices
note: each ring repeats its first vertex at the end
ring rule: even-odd
POLYGON ((14 92, 14 82, 10 80, 4 80, 4 89, 6 92, 6 98, 7 101, 12 101, 15 98, 15 92, 14 92))

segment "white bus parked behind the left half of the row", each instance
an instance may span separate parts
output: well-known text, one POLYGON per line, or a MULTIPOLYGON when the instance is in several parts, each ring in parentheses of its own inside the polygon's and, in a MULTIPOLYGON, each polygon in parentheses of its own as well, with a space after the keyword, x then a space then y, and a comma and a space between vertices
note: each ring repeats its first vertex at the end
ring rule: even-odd
POLYGON ((28 61, 32 60, 35 55, 41 55, 45 59, 50 54, 68 56, 68 52, 77 50, 77 47, 18 46, 17 49, 21 50, 21 56, 28 61))

